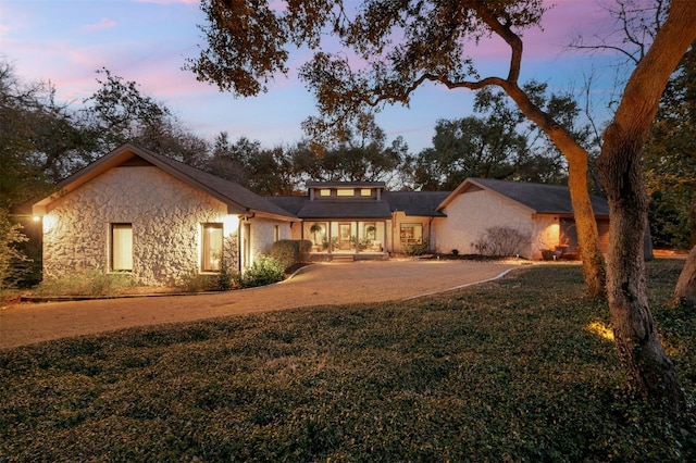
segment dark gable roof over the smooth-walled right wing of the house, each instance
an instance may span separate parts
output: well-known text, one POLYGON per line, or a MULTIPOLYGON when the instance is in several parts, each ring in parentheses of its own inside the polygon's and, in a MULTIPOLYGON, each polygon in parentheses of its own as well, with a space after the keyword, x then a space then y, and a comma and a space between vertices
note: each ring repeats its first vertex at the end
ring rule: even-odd
MULTIPOLYGON (((573 215, 573 204, 570 198, 570 189, 562 185, 532 184, 527 182, 495 180, 490 178, 467 178, 455 191, 452 191, 437 207, 438 211, 445 209, 459 195, 467 191, 488 190, 501 195, 536 214, 573 215)), ((604 198, 591 196, 592 208, 595 216, 608 217, 609 204, 604 198)))

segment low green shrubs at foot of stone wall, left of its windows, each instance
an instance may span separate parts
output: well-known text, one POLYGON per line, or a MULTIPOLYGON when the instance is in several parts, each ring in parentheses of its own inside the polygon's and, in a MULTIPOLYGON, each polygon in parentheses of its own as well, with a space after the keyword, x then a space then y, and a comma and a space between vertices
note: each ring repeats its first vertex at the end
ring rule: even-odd
POLYGON ((88 271, 41 281, 38 296, 115 296, 136 285, 129 273, 88 271))

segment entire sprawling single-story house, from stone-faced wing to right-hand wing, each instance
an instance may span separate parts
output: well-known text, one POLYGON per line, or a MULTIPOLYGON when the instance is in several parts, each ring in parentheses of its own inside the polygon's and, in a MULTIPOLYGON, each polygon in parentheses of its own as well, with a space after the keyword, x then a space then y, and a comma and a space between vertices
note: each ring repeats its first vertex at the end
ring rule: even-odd
MULTIPOLYGON (((606 245, 607 202, 593 207, 606 245)), ((33 213, 42 217, 45 277, 127 272, 152 286, 243 271, 279 239, 311 241, 313 260, 478 253, 492 227, 529 237, 515 252, 527 259, 577 247, 562 186, 469 178, 455 191, 388 191, 382 182, 309 182, 303 196, 260 197, 133 143, 63 180, 33 213)))

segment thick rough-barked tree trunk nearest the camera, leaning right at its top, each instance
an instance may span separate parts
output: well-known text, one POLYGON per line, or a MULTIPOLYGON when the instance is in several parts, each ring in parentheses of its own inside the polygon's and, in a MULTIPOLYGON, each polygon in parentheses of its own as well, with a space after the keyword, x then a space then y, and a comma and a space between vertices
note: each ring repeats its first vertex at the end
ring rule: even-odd
POLYGON ((696 2, 673 0, 670 15, 631 75, 597 162, 609 199, 607 296, 619 358, 631 386, 674 414, 685 400, 650 314, 643 255, 648 197, 643 147, 664 86, 696 39, 696 2))

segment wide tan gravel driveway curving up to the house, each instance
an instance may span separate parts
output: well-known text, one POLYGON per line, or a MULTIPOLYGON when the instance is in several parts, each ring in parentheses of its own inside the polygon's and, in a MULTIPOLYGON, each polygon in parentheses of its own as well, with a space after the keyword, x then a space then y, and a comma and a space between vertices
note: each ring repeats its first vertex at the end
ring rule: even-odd
POLYGON ((10 305, 0 310, 0 349, 135 326, 406 300, 495 278, 515 266, 471 261, 316 264, 281 284, 239 291, 10 305))

